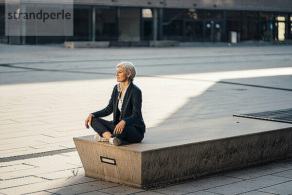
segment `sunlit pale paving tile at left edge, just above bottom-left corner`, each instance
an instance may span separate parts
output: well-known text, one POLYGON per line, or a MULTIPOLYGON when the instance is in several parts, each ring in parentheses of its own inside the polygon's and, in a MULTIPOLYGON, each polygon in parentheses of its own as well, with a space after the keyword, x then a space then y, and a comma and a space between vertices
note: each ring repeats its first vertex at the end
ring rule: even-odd
POLYGON ((43 179, 36 176, 27 176, 27 177, 15 178, 15 179, 8 179, 8 180, 0 181, 0 189, 26 185, 26 184, 31 184, 31 183, 38 183, 42 181, 47 181, 47 179, 43 179))

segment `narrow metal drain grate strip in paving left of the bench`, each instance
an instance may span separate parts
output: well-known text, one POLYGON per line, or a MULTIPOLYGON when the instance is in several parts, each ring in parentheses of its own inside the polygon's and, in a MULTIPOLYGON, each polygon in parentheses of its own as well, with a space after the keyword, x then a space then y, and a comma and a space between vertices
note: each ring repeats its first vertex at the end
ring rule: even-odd
POLYGON ((76 148, 66 148, 61 150, 53 150, 48 152, 41 152, 41 153, 34 153, 34 154, 27 154, 27 155, 18 155, 18 156, 8 156, 0 158, 0 162, 9 162, 14 160, 23 160, 28 158, 37 158, 41 156, 52 156, 52 155, 58 155, 62 153, 68 153, 68 152, 75 152, 77 151, 76 148))

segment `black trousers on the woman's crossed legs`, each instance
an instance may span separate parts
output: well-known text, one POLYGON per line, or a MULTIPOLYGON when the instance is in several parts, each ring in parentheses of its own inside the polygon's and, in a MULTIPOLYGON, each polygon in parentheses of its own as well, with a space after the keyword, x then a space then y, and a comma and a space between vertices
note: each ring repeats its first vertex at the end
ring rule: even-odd
POLYGON ((138 131, 133 125, 125 125, 121 134, 113 134, 115 128, 113 122, 102 118, 92 118, 91 127, 100 137, 108 131, 112 134, 111 137, 122 138, 130 143, 139 143, 144 138, 144 133, 138 131))

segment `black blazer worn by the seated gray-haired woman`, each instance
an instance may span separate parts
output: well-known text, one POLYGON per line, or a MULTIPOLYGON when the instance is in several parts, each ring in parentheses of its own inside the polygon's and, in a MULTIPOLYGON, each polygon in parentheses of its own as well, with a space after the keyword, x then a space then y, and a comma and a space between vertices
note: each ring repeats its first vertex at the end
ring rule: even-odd
POLYGON ((115 85, 111 94, 109 105, 106 108, 91 114, 94 117, 107 117, 113 112, 113 123, 115 125, 117 125, 121 120, 124 120, 126 125, 133 125, 139 131, 145 133, 146 127, 141 112, 141 90, 132 82, 130 82, 125 93, 121 112, 118 109, 118 96, 118 85, 115 85))

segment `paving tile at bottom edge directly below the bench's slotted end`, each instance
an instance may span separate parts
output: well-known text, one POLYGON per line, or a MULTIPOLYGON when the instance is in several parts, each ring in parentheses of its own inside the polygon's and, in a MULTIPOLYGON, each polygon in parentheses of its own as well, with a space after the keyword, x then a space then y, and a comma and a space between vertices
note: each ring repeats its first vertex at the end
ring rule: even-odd
POLYGON ((90 192, 93 190, 110 188, 114 186, 119 186, 119 184, 98 180, 82 184, 71 185, 63 188, 50 189, 47 191, 58 195, 76 195, 84 192, 90 192))

